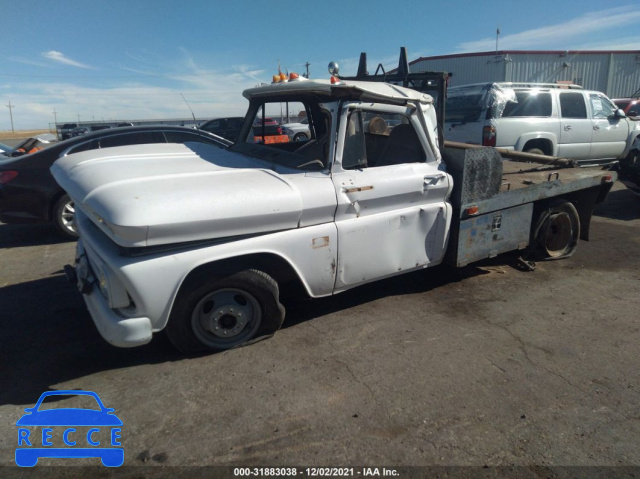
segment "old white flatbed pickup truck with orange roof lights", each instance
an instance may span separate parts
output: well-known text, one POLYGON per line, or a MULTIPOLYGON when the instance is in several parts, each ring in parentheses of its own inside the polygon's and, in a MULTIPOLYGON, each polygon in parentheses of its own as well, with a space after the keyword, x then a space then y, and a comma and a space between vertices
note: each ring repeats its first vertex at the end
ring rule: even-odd
POLYGON ((183 352, 225 350, 275 333, 290 287, 318 298, 444 261, 570 256, 616 178, 441 152, 432 98, 388 83, 299 79, 244 96, 228 150, 139 145, 53 165, 80 234, 67 270, 110 343, 166 330, 183 352), (254 118, 285 103, 306 111, 311 138, 256 143, 254 118))

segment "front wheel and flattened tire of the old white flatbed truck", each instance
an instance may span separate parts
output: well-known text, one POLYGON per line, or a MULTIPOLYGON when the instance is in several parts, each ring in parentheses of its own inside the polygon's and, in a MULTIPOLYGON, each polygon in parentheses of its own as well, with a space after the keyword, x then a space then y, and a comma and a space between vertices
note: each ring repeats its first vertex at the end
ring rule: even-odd
POLYGON ((180 294, 166 334, 185 354, 224 351, 272 336, 284 320, 278 283, 245 270, 180 294))

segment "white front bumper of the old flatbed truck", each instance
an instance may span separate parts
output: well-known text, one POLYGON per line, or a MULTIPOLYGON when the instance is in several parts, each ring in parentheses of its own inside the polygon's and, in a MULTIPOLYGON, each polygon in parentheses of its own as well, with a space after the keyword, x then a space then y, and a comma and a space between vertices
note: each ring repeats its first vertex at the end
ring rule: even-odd
POLYGON ((91 318, 100 335, 119 348, 141 346, 151 341, 151 320, 147 317, 124 318, 118 315, 96 286, 95 275, 86 256, 82 241, 78 241, 76 250, 76 268, 65 266, 70 281, 77 281, 91 318))

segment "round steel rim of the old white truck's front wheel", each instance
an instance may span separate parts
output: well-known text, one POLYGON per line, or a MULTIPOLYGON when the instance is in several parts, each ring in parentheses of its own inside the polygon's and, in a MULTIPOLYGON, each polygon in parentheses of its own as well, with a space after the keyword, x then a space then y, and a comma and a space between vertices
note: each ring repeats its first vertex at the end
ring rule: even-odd
POLYGON ((237 288, 218 289, 198 301, 191 313, 196 338, 212 347, 230 347, 251 339, 260 327, 258 300, 237 288))

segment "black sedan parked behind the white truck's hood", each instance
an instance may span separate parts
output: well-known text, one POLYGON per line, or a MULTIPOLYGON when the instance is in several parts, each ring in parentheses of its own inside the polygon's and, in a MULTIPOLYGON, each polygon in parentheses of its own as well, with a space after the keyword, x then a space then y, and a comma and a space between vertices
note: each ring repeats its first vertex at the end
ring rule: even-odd
POLYGON ((49 172, 54 161, 62 156, 97 148, 192 142, 219 148, 227 148, 232 144, 224 138, 192 128, 134 126, 89 133, 31 155, 0 160, 0 221, 53 223, 64 235, 75 237, 73 202, 49 172))

